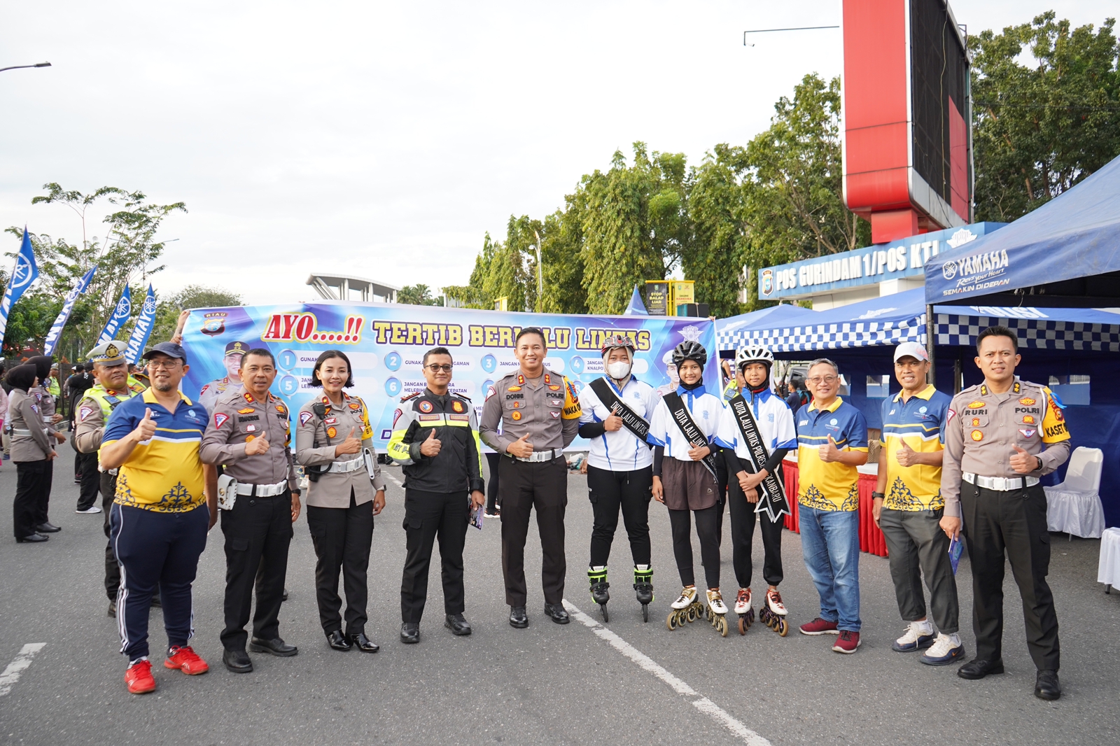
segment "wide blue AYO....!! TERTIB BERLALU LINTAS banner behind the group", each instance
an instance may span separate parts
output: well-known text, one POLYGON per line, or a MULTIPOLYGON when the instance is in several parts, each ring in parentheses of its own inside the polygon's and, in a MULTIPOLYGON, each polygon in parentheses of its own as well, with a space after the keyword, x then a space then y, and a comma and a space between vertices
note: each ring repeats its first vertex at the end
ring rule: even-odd
MULTIPOLYGON (((568 316, 520 314, 396 304, 323 302, 292 306, 236 306, 193 309, 183 333, 190 370, 183 391, 198 395, 207 383, 236 375, 240 342, 265 347, 277 358, 272 391, 296 412, 321 389, 310 385, 315 361, 325 349, 342 349, 354 367, 352 392, 370 405, 370 423, 380 448, 392 431, 400 398, 424 388, 423 353, 442 346, 455 360, 451 390, 482 410, 494 382, 517 370, 514 337, 526 326, 545 334, 544 364, 568 376, 577 389, 603 375, 601 341, 613 334, 634 339, 634 375, 664 394, 676 389, 673 347, 693 339, 709 354, 704 382, 721 385, 716 325, 708 319, 655 316, 568 316)), ((587 441, 571 446, 580 450, 587 441)))

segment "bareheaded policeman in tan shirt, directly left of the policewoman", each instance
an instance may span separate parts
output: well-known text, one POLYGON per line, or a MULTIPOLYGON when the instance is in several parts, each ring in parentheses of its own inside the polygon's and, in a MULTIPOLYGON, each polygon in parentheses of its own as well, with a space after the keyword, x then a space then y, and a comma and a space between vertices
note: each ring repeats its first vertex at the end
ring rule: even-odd
POLYGON ((245 652, 245 624, 254 578, 256 613, 249 649, 282 656, 299 652, 280 638, 278 616, 300 504, 288 407, 269 391, 277 375, 272 353, 250 349, 240 373, 245 388, 217 398, 200 456, 204 464, 223 466, 237 483, 233 507, 221 513, 226 559, 222 662, 234 673, 248 673, 253 663, 245 652))

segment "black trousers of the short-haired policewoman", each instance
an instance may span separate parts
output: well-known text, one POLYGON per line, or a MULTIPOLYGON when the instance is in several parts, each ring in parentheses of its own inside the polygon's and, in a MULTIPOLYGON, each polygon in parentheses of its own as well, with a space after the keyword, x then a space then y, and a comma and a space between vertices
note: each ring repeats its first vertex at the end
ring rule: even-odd
POLYGON ((338 597, 338 572, 346 591, 346 635, 365 632, 370 588, 370 547, 373 544, 373 503, 349 507, 307 506, 307 528, 315 544, 315 597, 319 603, 319 623, 328 635, 343 628, 343 599, 338 597))

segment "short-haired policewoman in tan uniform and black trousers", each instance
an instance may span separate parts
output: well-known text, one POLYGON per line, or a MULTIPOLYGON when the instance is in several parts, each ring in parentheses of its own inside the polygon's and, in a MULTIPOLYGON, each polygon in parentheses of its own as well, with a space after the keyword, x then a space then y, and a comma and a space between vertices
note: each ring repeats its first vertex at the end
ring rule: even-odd
POLYGON ((377 466, 365 402, 343 392, 354 385, 349 358, 327 349, 315 362, 311 385, 324 394, 299 411, 296 460, 308 474, 307 525, 315 553, 319 621, 335 650, 352 646, 376 653, 365 636, 366 569, 373 516, 385 506, 385 481, 377 466), (346 634, 342 631, 338 571, 346 590, 346 634))

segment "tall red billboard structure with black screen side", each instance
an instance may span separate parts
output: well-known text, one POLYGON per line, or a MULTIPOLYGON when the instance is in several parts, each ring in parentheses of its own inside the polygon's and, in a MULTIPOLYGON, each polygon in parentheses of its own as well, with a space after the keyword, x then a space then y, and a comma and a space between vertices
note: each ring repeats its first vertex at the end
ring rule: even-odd
POLYGON ((872 243, 970 223, 969 57, 942 0, 843 0, 843 188, 872 243))

